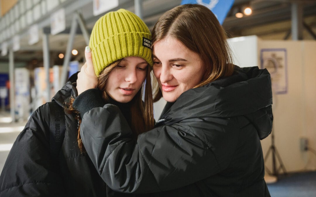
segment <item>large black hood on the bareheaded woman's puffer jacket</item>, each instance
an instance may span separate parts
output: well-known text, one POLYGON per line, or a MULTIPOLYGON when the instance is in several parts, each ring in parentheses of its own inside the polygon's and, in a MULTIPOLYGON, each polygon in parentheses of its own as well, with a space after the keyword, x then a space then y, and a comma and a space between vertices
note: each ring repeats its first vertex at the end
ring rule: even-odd
MULTIPOLYGON (((261 109, 266 109, 264 113, 272 118, 272 111, 269 109, 271 105, 272 90, 269 72, 258 67, 235 66, 232 76, 182 93, 162 119, 165 119, 165 124, 169 125, 185 119, 230 118, 248 115, 261 109)), ((252 123, 257 128, 261 128, 260 122, 262 120, 257 122, 254 120, 252 123)), ((270 122, 272 125, 272 120, 270 122)), ((270 132, 271 130, 268 134, 270 132)))

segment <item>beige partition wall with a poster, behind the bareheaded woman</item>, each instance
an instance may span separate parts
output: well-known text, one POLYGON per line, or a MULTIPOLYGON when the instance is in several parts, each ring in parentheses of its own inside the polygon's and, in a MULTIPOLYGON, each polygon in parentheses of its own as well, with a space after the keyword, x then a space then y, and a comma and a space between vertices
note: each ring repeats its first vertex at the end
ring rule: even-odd
MULTIPOLYGON (((261 40, 253 36, 247 38, 252 42, 230 42, 241 67, 246 56, 248 60, 245 64, 260 67, 261 49, 286 49, 288 90, 286 94, 273 95, 275 146, 288 172, 316 170, 316 155, 300 150, 301 137, 307 137, 309 146, 316 149, 316 41, 261 40), (244 54, 243 48, 249 47, 247 45, 257 46, 258 49, 244 54)), ((271 136, 262 140, 261 144, 265 156, 271 145, 271 136)), ((270 153, 265 160, 270 171, 271 158, 270 153)))

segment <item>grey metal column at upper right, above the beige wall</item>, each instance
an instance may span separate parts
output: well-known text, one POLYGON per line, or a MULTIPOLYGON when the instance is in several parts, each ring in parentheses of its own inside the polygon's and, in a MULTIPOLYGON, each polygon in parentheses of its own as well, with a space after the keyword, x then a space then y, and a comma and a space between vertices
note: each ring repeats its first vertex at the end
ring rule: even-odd
POLYGON ((303 39, 303 5, 298 2, 292 3, 292 40, 303 39))

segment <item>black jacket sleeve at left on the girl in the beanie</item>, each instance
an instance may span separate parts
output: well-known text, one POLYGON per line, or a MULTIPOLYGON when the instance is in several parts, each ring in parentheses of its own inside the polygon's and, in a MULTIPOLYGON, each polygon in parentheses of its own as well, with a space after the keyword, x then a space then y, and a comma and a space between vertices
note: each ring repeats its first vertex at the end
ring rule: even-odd
POLYGON ((48 105, 39 107, 16 138, 0 176, 0 196, 63 196, 49 151, 48 105))

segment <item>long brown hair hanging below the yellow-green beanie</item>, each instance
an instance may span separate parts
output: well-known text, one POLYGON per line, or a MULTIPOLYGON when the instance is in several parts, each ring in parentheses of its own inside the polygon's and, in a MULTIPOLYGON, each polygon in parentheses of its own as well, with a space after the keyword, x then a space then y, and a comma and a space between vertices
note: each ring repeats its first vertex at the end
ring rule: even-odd
MULTIPOLYGON (((106 83, 109 78, 110 72, 120 63, 121 60, 115 61, 109 66, 105 67, 105 69, 101 72, 98 77, 98 89, 102 92, 102 98, 108 102, 109 96, 106 93, 106 83)), ((143 87, 137 92, 135 97, 131 101, 131 110, 130 110, 130 118, 131 118, 131 130, 137 136, 140 133, 148 131, 154 127, 154 114, 153 114, 153 95, 151 89, 151 78, 150 78, 151 68, 147 66, 147 76, 143 87), (142 100, 144 93, 144 101, 142 100)), ((81 118, 79 112, 73 108, 72 103, 75 99, 73 97, 70 98, 68 102, 67 111, 76 113, 76 119, 78 120, 78 147, 81 152, 85 152, 85 149, 82 144, 81 136, 80 136, 80 124, 81 118)), ((83 114, 82 114, 83 115, 83 114)))

